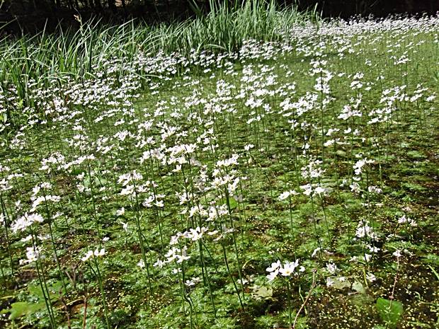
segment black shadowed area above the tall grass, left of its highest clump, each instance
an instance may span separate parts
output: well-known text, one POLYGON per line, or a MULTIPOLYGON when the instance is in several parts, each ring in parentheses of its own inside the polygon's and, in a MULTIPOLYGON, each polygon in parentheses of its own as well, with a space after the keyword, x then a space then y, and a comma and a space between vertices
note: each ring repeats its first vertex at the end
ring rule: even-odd
MULTIPOLYGON (((120 24, 141 19, 149 24, 183 21, 193 15, 188 0, 0 0, 3 33, 52 32, 79 28, 79 21, 120 24), (3 3, 2 3, 3 1, 3 3)), ((199 7, 207 11, 202 2, 199 7)))

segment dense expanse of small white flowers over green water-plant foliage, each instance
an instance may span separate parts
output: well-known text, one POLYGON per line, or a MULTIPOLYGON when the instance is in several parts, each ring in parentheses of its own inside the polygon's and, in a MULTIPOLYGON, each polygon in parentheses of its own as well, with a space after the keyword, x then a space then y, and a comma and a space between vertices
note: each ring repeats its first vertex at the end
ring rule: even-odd
POLYGON ((277 33, 4 89, 2 328, 437 328, 439 18, 277 33))

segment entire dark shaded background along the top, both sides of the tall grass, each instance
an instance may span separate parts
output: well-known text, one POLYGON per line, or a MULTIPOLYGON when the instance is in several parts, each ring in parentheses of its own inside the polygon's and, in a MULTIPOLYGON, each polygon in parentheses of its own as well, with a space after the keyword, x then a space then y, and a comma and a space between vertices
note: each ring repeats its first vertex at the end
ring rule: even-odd
MULTIPOLYGON (((74 15, 83 21, 98 17, 103 23, 120 23, 142 18, 148 23, 183 20, 194 15, 192 0, 0 0, 0 29, 31 32, 49 29, 62 22, 78 25, 74 15), (7 25, 4 25, 7 23, 7 25)), ((241 4, 244 0, 228 1, 241 4)), ((430 15, 439 11, 439 0, 277 0, 280 6, 296 4, 300 10, 317 8, 324 18, 349 18, 354 15, 384 17, 395 13, 430 15)), ((209 0, 195 0, 204 13, 209 0)))

